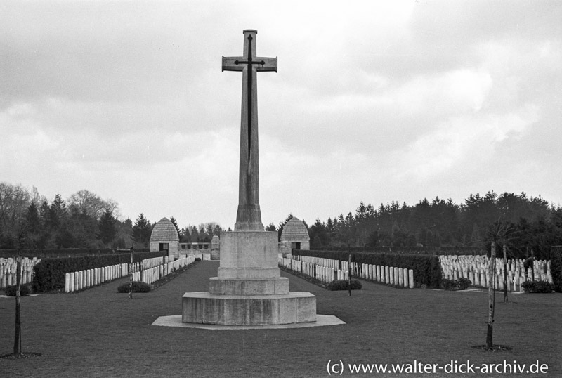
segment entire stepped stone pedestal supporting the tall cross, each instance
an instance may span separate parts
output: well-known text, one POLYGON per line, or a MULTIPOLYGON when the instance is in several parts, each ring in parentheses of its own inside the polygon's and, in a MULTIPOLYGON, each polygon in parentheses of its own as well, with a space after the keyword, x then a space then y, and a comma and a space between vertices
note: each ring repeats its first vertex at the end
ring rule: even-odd
MULTIPOLYGON (((263 228, 262 228, 263 229, 263 228)), ((289 292, 277 266, 277 233, 221 233, 221 266, 209 292, 185 293, 181 321, 209 325, 283 325, 316 321, 316 297, 289 292)))

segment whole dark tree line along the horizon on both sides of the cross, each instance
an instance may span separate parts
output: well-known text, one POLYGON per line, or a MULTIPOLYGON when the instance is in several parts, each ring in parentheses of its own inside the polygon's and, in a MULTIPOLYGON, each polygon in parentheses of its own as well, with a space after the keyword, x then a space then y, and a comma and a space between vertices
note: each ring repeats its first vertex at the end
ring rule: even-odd
MULTIPOLYGON (((15 248, 25 230, 33 248, 148 247, 152 228, 143 213, 136 221, 119 219, 115 200, 103 200, 79 190, 66 200, 48 202, 37 188, 0 183, 0 249, 15 248)), ((266 230, 282 233, 284 221, 266 230)), ((180 228, 172 216, 180 242, 210 242, 220 235, 217 223, 180 228)), ((413 206, 391 202, 374 207, 360 202, 346 216, 316 219, 308 225, 311 248, 318 247, 476 247, 488 250, 490 241, 507 245, 511 256, 548 258, 553 245, 562 245, 562 208, 525 193, 470 195, 462 204, 451 199, 420 200, 413 206)))

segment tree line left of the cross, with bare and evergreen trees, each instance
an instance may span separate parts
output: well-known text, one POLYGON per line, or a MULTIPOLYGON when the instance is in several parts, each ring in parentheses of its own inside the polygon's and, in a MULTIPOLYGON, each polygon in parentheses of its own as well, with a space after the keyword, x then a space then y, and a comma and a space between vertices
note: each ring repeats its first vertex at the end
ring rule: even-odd
MULTIPOLYGON (((103 200, 89 190, 79 190, 66 200, 57 194, 49 202, 37 188, 0 183, 0 249, 16 248, 25 235, 25 248, 130 248, 148 247, 152 228, 143 213, 133 223, 119 220, 119 204, 103 200)), ((210 242, 221 233, 217 223, 179 228, 171 222, 181 242, 210 242)))

